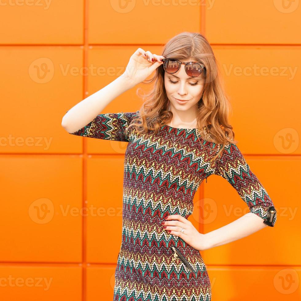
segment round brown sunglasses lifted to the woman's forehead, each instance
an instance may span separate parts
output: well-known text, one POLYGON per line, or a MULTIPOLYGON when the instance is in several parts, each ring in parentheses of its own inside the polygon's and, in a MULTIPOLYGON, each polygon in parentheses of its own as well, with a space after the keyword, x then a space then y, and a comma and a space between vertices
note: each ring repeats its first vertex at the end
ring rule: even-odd
POLYGON ((169 74, 173 74, 179 71, 182 64, 185 64, 185 72, 190 77, 197 77, 200 76, 203 69, 204 74, 206 75, 206 68, 205 65, 200 64, 198 62, 181 62, 175 59, 162 59, 163 69, 165 72, 169 74))

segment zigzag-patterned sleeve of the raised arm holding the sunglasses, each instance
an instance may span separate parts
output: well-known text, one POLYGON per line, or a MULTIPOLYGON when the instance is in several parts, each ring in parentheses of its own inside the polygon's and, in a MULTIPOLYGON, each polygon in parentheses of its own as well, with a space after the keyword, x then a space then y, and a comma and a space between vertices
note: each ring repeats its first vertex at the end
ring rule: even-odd
POLYGON ((90 123, 70 134, 129 142, 129 137, 125 133, 125 129, 129 126, 132 119, 136 117, 138 112, 139 111, 99 114, 90 123))

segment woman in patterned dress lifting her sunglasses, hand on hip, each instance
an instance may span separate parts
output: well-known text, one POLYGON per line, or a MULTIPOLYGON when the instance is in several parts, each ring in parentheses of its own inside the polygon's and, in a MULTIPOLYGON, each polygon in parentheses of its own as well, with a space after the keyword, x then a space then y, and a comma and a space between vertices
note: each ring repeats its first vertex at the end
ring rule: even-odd
POLYGON ((213 51, 199 33, 173 37, 162 56, 139 48, 122 76, 63 117, 72 135, 128 142, 124 161, 122 244, 114 300, 211 300, 201 250, 276 222, 268 193, 234 143, 213 51), (97 115, 144 81, 154 88, 136 112, 97 115), (250 213, 202 234, 188 220, 201 182, 217 174, 250 213))

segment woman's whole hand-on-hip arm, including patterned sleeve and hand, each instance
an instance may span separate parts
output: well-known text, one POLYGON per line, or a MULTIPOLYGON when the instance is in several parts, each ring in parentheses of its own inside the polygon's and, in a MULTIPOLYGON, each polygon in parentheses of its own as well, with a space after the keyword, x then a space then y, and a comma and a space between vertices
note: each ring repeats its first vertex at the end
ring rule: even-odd
POLYGON ((226 145, 221 158, 215 161, 214 174, 225 178, 236 189, 250 212, 206 234, 199 233, 185 217, 173 214, 165 218, 168 219, 164 224, 165 230, 170 230, 170 234, 179 236, 202 251, 238 240, 266 226, 274 227, 277 220, 274 204, 236 144, 226 145), (184 231, 181 232, 181 229, 184 231))

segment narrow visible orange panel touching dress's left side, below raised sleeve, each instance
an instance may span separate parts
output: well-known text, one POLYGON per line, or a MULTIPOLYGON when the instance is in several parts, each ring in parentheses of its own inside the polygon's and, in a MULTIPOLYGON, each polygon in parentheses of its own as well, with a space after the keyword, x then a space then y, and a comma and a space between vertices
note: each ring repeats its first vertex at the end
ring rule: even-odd
POLYGON ((88 262, 117 262, 122 237, 123 168, 122 155, 89 155, 87 160, 87 205, 91 208, 87 217, 88 262))

